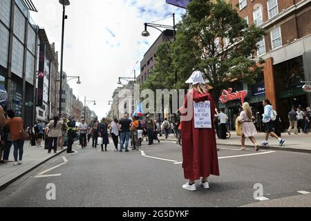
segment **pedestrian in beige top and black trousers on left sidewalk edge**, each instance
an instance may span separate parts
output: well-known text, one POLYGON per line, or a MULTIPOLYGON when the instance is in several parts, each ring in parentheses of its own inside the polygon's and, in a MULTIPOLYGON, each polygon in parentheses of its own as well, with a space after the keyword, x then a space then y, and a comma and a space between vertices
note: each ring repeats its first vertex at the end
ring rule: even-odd
POLYGON ((50 141, 50 145, 48 146, 48 153, 52 151, 52 147, 54 153, 57 153, 57 140, 58 137, 62 136, 62 122, 59 121, 59 117, 53 117, 53 120, 47 126, 48 128, 48 139, 50 141))

